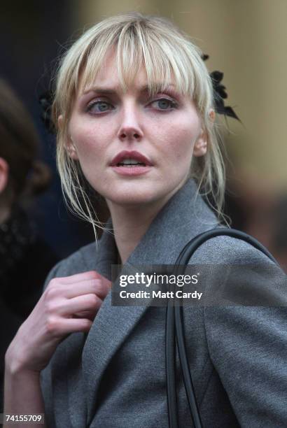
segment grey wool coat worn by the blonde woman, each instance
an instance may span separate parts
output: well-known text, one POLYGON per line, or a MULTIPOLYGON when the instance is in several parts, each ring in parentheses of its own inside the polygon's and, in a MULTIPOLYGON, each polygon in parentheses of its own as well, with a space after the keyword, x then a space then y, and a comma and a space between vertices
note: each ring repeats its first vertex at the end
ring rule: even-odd
MULTIPOLYGON (((191 238, 216 225, 188 180, 155 217, 127 264, 173 264, 191 238)), ((113 235, 104 231, 98 243, 57 264, 45 286, 51 278, 90 270, 110 278, 116 257, 113 235)), ((271 263, 251 245, 221 236, 204 243, 193 263, 262 260, 271 263)), ((108 294, 89 333, 67 336, 41 372, 48 427, 167 428, 165 311, 112 306, 108 294)), ((186 307, 184 322, 204 428, 286 428, 286 308, 186 307)), ((178 403, 180 427, 193 427, 182 380, 178 403)))

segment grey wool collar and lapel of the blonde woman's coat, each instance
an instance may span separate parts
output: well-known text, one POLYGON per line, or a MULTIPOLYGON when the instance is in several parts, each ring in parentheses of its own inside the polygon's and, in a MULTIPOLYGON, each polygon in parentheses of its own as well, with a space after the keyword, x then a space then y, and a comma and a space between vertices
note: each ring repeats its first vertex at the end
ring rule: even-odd
MULTIPOLYGON (((197 194, 197 186, 190 179, 155 217, 139 245, 127 259, 127 264, 173 264, 190 239, 216 224, 216 216, 197 194)), ((116 244, 109 232, 111 227, 110 219, 97 244, 99 257, 94 268, 106 276, 109 276, 111 264, 117 263, 116 244)), ((97 313, 83 348, 87 423, 92 421, 94 415, 97 391, 104 370, 145 311, 146 306, 111 306, 110 293, 97 313)))

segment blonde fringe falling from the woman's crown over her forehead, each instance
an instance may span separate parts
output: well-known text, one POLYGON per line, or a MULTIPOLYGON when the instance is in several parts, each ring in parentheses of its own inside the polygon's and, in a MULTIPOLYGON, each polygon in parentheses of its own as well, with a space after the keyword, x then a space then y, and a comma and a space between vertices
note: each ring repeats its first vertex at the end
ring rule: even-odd
MULTIPOLYGON (((99 34, 94 31, 90 43, 85 45, 76 64, 69 64, 72 73, 69 80, 66 80, 69 87, 65 88, 64 93, 74 96, 79 90, 89 90, 113 49, 116 54, 120 89, 124 93, 134 82, 141 66, 144 66, 151 96, 173 83, 180 94, 188 94, 190 99, 197 100, 199 105, 204 104, 202 95, 206 93, 206 80, 201 78, 202 60, 198 61, 198 58, 191 55, 195 49, 194 45, 192 49, 190 43, 183 45, 182 38, 181 45, 178 45, 176 34, 165 34, 165 31, 162 31, 160 37, 158 29, 142 22, 127 22, 121 28, 118 27, 114 25, 99 34), (203 81, 204 85, 201 84, 203 81)), ((199 49, 197 56, 200 58, 199 49)), ((69 62, 69 57, 66 57, 66 61, 69 62)), ((205 69, 204 64, 203 68, 205 69)), ((209 78, 207 70, 203 71, 209 78)))

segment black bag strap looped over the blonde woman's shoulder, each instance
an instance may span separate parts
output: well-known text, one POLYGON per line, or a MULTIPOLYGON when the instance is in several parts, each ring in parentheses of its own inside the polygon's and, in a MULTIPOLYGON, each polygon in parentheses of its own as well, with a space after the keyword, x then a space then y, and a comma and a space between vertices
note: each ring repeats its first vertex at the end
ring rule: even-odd
MULTIPOLYGON (((253 245, 253 247, 262 251, 269 259, 278 265, 276 259, 271 253, 255 238, 245 234, 242 231, 236 229, 228 229, 225 227, 211 229, 205 231, 202 234, 195 236, 189 241, 181 251, 179 257, 176 259, 175 269, 176 272, 180 265, 187 265, 190 258, 193 256, 197 248, 200 247, 204 242, 216 236, 231 236, 232 238, 239 238, 242 241, 246 241, 253 245)), ((167 306, 166 315, 166 334, 165 334, 165 359, 166 359, 166 374, 167 374, 167 407, 169 413, 169 428, 179 427, 179 416, 176 404, 176 371, 175 371, 175 360, 176 360, 176 343, 179 351, 179 361, 181 364, 181 371, 183 374, 183 383, 186 388, 186 397, 188 399, 188 406, 190 408, 190 415, 193 420, 195 428, 202 428, 202 422, 200 420, 200 412, 198 410, 197 401, 195 398, 195 389, 193 386, 193 380, 190 374, 190 368, 188 366, 188 357, 186 353, 186 343, 183 331, 183 308, 182 306, 173 306, 169 302, 167 306)))

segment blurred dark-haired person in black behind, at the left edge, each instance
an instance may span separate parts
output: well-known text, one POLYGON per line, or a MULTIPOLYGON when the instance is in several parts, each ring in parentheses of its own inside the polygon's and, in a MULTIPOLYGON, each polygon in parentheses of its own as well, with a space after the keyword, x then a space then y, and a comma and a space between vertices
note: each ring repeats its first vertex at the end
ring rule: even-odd
POLYGON ((39 139, 25 106, 0 79, 0 381, 4 355, 20 324, 41 295, 57 256, 38 236, 27 209, 50 184, 50 169, 38 160, 39 139))

